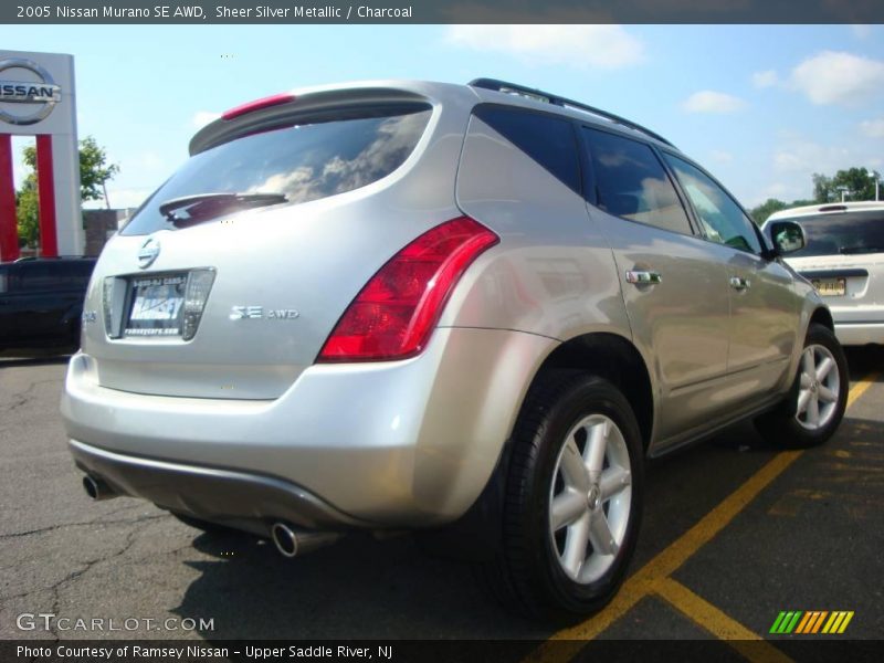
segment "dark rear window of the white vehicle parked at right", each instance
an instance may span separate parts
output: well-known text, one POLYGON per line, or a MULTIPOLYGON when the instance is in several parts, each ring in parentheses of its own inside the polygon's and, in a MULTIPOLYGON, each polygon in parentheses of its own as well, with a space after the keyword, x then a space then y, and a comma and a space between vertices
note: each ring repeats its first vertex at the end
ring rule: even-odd
MULTIPOLYGON (((791 221, 804 229, 807 245, 790 253, 789 257, 884 253, 882 210, 799 217, 791 221)), ((770 239, 770 224, 765 230, 770 239)))

